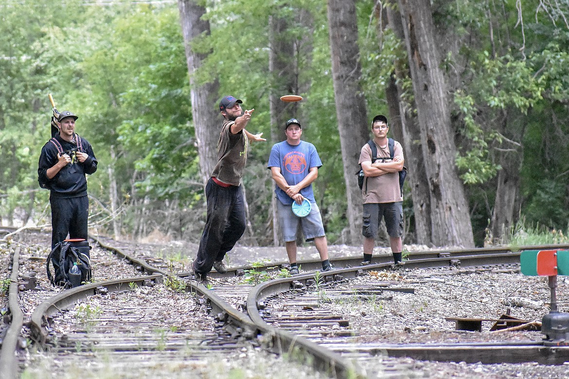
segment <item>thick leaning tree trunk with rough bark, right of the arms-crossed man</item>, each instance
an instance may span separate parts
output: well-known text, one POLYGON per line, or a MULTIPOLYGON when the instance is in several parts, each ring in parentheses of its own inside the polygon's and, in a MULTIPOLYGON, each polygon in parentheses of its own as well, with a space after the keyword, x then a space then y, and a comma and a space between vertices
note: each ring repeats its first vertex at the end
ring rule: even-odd
POLYGON ((431 192, 432 241, 438 246, 474 246, 468 203, 456 170, 448 88, 440 69, 430 2, 399 0, 431 192))

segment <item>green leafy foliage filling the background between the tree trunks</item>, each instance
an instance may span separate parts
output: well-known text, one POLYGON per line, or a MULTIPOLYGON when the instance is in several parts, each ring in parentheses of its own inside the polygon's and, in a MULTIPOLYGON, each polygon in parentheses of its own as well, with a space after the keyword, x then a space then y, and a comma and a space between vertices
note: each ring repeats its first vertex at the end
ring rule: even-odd
MULTIPOLYGON (((323 160, 314 183, 316 201, 328 240, 343 241, 348 226, 345 180, 326 3, 201 3, 207 6, 204 19, 211 35, 200 36, 191 48, 209 56, 193 79, 218 80, 217 96, 234 94, 246 108, 255 108, 251 131, 265 133, 269 141, 284 138, 281 128, 270 135, 269 94, 280 88, 282 78, 269 71, 269 20, 286 22, 277 38, 294 43, 287 59, 298 66, 296 80, 306 99, 289 116, 303 121, 303 138, 314 143, 323 160)), ((378 23, 380 11, 396 6, 356 6, 367 109, 386 113, 391 75, 395 69, 407 72, 405 43, 389 25, 385 28, 385 18, 378 23)), ((475 234, 487 226, 506 150, 523 157, 521 214, 556 230, 569 217, 569 7, 540 2, 518 8, 507 1, 432 3, 440 67, 450 83, 459 148, 455 163, 468 184, 475 234)), ((47 94, 52 93, 57 108, 79 114, 77 132, 92 143, 100 164, 89 176, 89 195, 96 199, 91 224, 106 227, 115 180, 122 233, 140 236, 158 229, 197 241, 205 201, 176 5, 9 1, 0 3, 0 19, 0 217, 48 224, 49 193, 38 188, 36 164, 50 137, 47 94)), ((409 110, 413 83, 409 77, 398 81, 401 107, 409 110)), ((243 182, 251 229, 262 232, 244 238, 246 244, 272 243, 264 233, 274 189, 266 170, 270 148, 269 142, 251 146, 243 182)), ((405 201, 411 210, 409 196, 405 201)))

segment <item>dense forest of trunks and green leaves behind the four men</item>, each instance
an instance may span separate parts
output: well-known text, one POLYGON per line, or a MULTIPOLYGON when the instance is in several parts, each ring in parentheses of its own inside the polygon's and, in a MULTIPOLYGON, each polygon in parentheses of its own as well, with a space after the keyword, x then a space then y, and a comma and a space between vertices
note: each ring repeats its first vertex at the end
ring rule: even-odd
POLYGON ((50 223, 36 170, 51 93, 97 155, 92 228, 199 240, 232 94, 268 139, 249 151, 241 244, 279 244, 266 163, 290 117, 323 160, 329 243, 360 244, 353 174, 378 113, 410 168, 406 244, 567 230, 568 18, 567 0, 0 0, 2 223, 50 223), (304 100, 275 101, 287 93, 304 100))

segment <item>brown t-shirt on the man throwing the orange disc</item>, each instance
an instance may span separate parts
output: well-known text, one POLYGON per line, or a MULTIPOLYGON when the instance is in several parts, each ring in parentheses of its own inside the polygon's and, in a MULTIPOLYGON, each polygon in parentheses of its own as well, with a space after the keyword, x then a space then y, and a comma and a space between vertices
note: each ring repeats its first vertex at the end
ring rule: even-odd
POLYGON ((216 176, 220 182, 240 186, 247 163, 249 140, 243 131, 231 133, 230 129, 234 123, 235 121, 225 121, 221 127, 217 142, 218 162, 213 168, 212 176, 216 176))

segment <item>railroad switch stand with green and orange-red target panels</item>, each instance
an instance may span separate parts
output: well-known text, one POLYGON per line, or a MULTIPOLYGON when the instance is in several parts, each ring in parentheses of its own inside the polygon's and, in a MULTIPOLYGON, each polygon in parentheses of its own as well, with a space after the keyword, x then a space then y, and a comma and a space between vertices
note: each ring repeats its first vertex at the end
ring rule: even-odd
POLYGON ((569 345, 569 314, 557 309, 557 275, 569 275, 569 250, 526 250, 519 257, 522 274, 549 277, 551 306, 543 316, 541 332, 546 346, 569 345))

